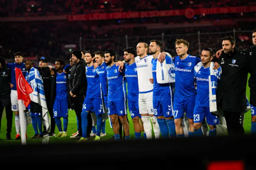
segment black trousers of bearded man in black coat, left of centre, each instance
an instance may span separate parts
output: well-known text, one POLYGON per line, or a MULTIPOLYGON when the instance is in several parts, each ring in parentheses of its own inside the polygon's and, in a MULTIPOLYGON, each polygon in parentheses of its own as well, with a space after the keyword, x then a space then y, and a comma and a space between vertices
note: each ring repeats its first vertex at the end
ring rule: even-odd
MULTIPOLYGON (((78 136, 82 136, 82 134, 83 134, 81 113, 82 113, 84 98, 85 98, 84 94, 78 94, 78 95, 76 95, 76 97, 72 97, 74 111, 76 112, 76 116, 78 119, 78 136)), ((91 114, 87 115, 87 119, 88 119, 88 126, 87 126, 86 133, 87 133, 87 135, 89 135, 92 131, 92 116, 91 116, 91 114)))

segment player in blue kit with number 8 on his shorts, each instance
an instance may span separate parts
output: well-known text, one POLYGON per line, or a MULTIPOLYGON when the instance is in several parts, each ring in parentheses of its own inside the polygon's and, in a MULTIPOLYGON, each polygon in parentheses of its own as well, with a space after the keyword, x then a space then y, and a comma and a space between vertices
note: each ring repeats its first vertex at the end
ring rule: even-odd
POLYGON ((53 118, 59 130, 59 133, 55 137, 65 137, 67 136, 68 128, 68 77, 66 73, 63 72, 64 61, 57 59, 55 62, 56 73, 52 75, 51 85, 51 103, 53 103, 53 118), (63 118, 63 130, 62 122, 63 118))

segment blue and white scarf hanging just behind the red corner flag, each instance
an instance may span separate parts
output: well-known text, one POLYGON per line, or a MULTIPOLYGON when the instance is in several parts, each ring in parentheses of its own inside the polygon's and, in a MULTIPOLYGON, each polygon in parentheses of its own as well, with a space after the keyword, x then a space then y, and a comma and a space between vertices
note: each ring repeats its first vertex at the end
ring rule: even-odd
POLYGON ((49 131, 50 124, 44 93, 44 84, 38 69, 32 67, 30 71, 26 73, 26 80, 33 89, 33 92, 29 95, 30 99, 31 101, 38 103, 40 106, 42 106, 42 124, 46 126, 46 130, 49 131))

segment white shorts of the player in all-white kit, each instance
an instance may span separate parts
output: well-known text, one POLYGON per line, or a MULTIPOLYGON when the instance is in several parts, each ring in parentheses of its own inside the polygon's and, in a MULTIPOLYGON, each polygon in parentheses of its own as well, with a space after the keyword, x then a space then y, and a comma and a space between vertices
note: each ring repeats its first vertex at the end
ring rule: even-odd
POLYGON ((139 93, 139 111, 140 114, 154 115, 153 91, 149 93, 139 93))

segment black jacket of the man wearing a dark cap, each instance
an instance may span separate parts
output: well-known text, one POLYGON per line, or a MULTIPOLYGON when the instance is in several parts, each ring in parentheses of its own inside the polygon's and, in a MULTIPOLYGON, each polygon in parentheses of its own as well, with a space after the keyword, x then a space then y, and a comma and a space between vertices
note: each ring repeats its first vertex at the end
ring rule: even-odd
POLYGON ((50 82, 51 71, 49 67, 45 67, 45 68, 38 67, 38 71, 43 79, 45 99, 46 99, 47 105, 49 105, 50 97, 51 97, 51 82, 50 82))

